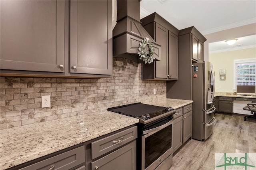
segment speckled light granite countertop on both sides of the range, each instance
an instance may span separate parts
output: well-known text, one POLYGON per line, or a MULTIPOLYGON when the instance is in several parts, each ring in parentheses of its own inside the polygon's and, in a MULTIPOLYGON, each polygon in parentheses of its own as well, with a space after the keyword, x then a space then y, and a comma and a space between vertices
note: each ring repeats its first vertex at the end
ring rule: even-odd
MULTIPOLYGON (((163 99, 145 104, 177 109, 192 102, 163 99)), ((136 118, 100 111, 0 130, 0 169, 40 158, 138 122, 136 118)))

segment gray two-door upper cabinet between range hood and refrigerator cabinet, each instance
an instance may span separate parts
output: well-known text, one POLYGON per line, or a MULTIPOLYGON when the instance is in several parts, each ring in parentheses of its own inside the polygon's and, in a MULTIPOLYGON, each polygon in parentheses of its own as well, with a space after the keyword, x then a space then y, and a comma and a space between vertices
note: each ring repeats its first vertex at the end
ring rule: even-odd
POLYGON ((142 63, 142 80, 177 80, 179 30, 156 13, 140 21, 155 42, 162 45, 160 61, 142 63))

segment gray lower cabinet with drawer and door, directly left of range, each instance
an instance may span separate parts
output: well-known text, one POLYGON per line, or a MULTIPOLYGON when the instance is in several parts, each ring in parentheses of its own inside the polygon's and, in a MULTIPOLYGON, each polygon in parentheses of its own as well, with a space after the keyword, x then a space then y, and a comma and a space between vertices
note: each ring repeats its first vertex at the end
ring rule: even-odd
POLYGON ((137 126, 91 142, 88 170, 136 170, 137 126))

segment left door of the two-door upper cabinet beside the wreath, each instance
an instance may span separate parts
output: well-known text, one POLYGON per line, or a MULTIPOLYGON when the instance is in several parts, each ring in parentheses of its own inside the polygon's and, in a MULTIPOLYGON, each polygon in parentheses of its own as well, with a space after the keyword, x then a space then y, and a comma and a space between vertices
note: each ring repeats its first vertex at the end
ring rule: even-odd
POLYGON ((156 43, 161 44, 161 60, 156 61, 156 78, 168 78, 168 30, 156 23, 156 43))

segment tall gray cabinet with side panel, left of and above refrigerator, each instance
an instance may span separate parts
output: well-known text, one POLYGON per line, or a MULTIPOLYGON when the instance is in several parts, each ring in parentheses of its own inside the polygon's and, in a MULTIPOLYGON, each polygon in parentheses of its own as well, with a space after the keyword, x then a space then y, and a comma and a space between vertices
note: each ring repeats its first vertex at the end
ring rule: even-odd
POLYGON ((203 43, 206 38, 194 26, 179 31, 179 79, 166 83, 166 97, 192 100, 191 64, 203 60, 203 43))

